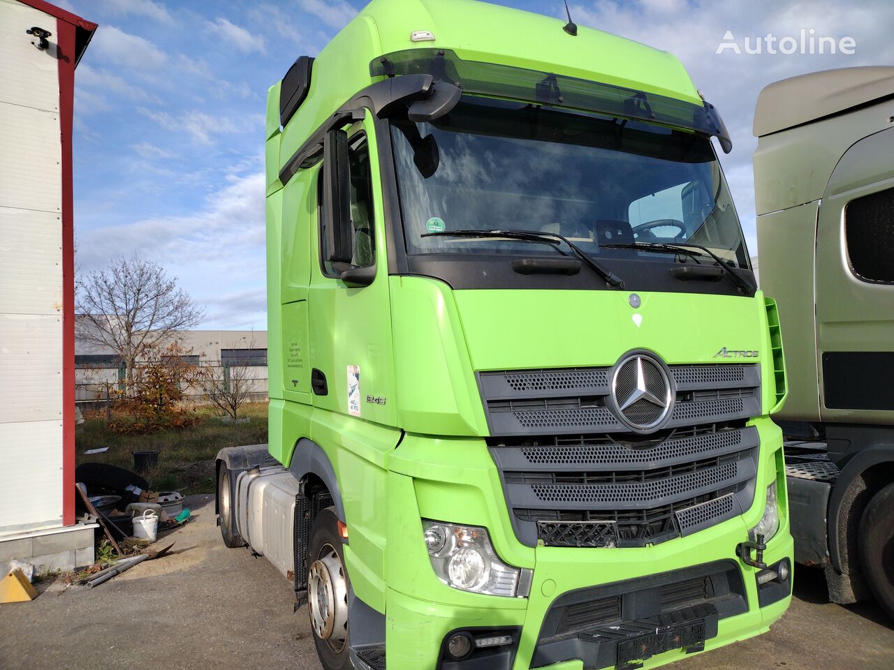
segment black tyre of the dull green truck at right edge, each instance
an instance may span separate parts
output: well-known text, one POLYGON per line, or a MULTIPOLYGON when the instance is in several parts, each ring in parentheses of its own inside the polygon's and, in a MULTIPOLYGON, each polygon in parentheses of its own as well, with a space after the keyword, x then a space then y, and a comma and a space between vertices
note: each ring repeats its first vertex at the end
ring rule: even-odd
POLYGON ((869 501, 860 520, 858 540, 869 589, 894 621, 894 484, 869 501))

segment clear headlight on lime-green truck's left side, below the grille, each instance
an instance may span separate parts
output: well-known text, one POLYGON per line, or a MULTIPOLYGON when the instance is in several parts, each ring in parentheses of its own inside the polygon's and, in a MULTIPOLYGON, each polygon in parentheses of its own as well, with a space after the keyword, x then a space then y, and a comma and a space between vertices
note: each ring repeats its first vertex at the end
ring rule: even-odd
POLYGON ((506 565, 480 526, 422 522, 434 574, 454 589, 492 596, 527 596, 531 572, 506 565))

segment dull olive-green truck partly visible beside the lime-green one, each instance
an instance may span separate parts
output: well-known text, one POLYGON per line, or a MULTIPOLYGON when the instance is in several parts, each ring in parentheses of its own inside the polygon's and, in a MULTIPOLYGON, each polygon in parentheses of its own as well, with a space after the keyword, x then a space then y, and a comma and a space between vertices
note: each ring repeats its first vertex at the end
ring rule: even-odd
POLYGON ((757 101, 761 286, 779 302, 789 513, 830 598, 894 618, 894 68, 807 74, 757 101))

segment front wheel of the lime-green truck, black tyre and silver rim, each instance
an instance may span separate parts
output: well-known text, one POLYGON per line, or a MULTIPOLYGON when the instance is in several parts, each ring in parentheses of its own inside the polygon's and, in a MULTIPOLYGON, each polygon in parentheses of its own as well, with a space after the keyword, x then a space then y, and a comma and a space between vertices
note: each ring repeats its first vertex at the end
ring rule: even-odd
POLYGON ((316 655, 324 670, 350 670, 348 596, 342 538, 334 507, 314 519, 308 546, 308 616, 316 655))

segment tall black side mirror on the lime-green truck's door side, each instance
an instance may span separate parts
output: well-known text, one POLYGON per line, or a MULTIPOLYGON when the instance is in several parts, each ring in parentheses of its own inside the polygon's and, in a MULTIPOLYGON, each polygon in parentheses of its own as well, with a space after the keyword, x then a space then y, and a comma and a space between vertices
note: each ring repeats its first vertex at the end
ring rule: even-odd
POLYGON ((323 145, 323 208, 326 222, 325 260, 350 264, 354 226, 350 221, 348 133, 333 129, 323 145))

